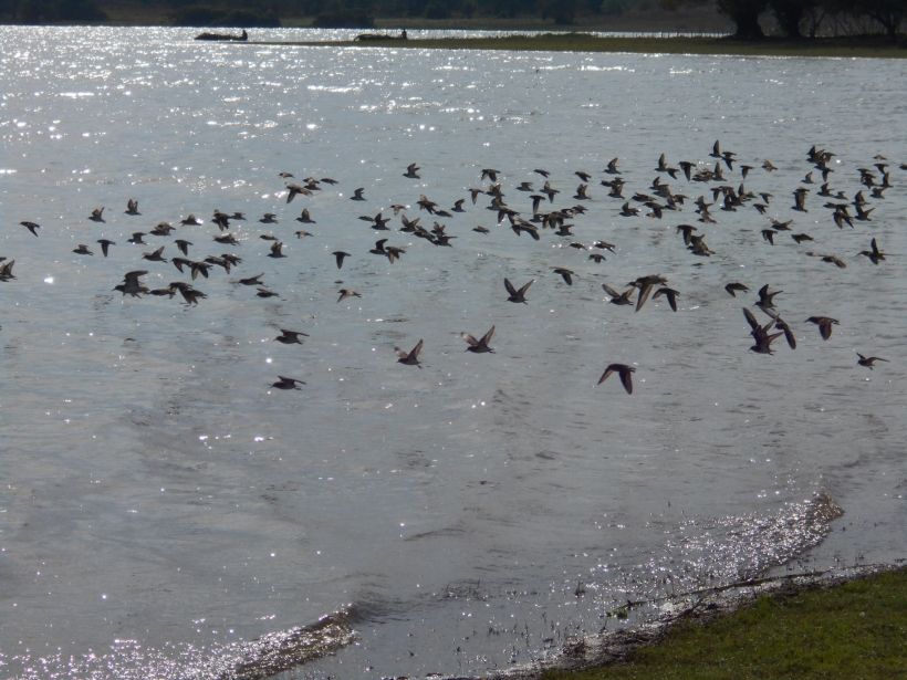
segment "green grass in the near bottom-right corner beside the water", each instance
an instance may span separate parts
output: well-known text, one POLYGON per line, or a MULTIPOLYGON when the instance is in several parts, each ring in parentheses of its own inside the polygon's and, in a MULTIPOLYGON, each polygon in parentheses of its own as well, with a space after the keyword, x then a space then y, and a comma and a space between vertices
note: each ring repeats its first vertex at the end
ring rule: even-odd
POLYGON ((627 662, 543 680, 885 680, 907 678, 907 571, 764 596, 684 624, 627 662))

